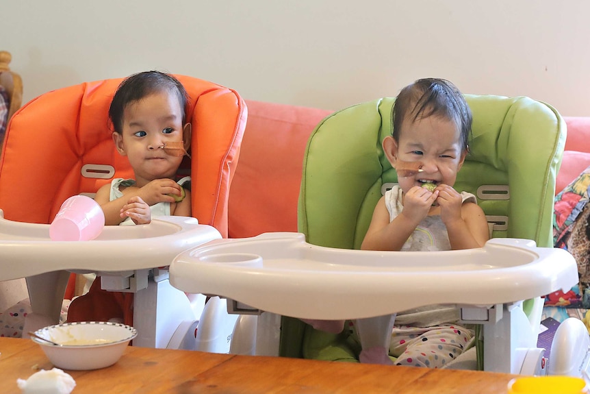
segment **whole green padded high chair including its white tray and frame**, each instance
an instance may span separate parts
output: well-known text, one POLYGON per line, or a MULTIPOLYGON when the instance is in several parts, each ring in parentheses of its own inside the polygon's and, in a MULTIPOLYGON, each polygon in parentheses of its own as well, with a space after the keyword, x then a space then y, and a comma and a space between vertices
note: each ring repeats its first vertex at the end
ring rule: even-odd
MULTIPOLYGON (((480 328, 480 343, 446 367, 544 373, 543 349, 537 346, 541 296, 578 280, 574 258, 552 247, 565 125, 552 107, 527 97, 466 98, 474 118, 471 153, 454 186, 476 195, 485 211, 495 239, 484 247, 355 250, 377 201, 396 182, 381 149, 392 132, 394 98, 383 98, 335 112, 311 134, 298 233, 218 240, 189 249, 170 264, 170 282, 189 293, 227 297, 233 312, 253 314, 242 315, 235 326, 230 351, 242 343, 238 354, 357 361, 359 345, 349 340, 348 330, 327 334, 281 316, 379 320, 443 304, 459 307, 461 323, 480 328), (409 297, 416 288, 420 297, 409 297)), ((583 323, 571 320, 574 331, 565 336, 580 339, 576 349, 590 348, 583 323)), ((561 326, 569 324, 561 323, 558 334, 561 326)), ((573 360, 568 353, 573 348, 562 346, 557 353, 573 360)))

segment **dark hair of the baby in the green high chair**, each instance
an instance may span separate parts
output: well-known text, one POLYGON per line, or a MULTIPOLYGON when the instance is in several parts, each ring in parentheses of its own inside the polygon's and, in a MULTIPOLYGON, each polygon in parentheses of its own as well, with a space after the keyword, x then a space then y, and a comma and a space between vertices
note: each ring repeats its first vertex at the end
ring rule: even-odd
POLYGON ((463 151, 468 151, 473 120, 471 110, 457 86, 446 79, 418 79, 400 90, 392 110, 394 140, 399 141, 402 123, 407 116, 413 116, 412 121, 417 121, 433 115, 454 121, 461 131, 463 151))

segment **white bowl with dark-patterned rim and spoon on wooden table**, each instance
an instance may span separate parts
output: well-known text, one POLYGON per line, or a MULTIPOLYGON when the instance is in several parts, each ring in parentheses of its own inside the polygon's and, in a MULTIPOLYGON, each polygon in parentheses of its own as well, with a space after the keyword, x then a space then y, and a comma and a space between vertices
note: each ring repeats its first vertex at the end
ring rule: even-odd
POLYGON ((81 321, 49 325, 35 334, 59 344, 53 345, 31 336, 55 367, 88 370, 109 367, 117 362, 138 332, 121 323, 81 321))

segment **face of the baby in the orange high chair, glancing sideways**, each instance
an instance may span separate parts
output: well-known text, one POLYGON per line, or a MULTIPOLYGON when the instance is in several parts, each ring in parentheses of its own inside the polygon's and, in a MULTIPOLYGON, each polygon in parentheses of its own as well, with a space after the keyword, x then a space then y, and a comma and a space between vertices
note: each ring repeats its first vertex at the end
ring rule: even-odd
POLYGON ((125 108, 123 130, 115 143, 129 159, 138 186, 177 173, 182 156, 166 152, 164 146, 176 146, 183 140, 182 115, 178 98, 167 90, 125 108))

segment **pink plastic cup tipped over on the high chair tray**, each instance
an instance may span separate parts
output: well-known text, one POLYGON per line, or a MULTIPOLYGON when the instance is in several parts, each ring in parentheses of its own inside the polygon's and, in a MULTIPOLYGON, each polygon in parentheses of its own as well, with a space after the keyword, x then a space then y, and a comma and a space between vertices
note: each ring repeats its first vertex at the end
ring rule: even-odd
POLYGON ((51 241, 90 241, 105 227, 105 214, 97 203, 83 195, 72 196, 62 204, 49 226, 51 241))

